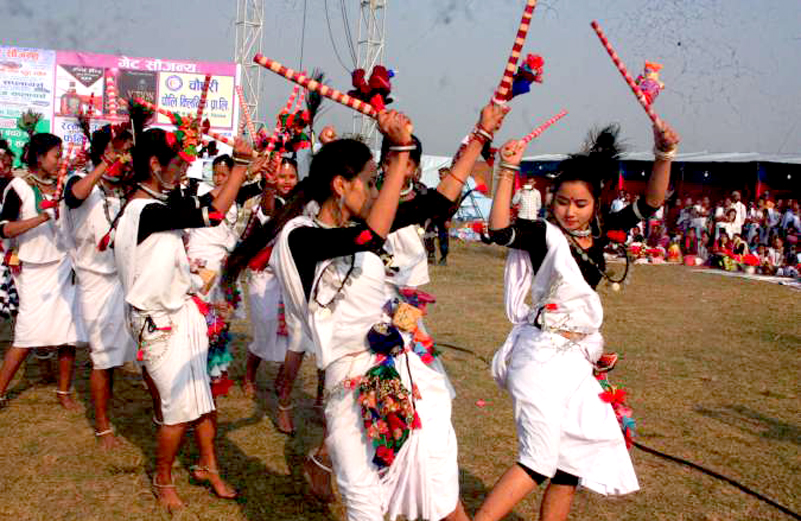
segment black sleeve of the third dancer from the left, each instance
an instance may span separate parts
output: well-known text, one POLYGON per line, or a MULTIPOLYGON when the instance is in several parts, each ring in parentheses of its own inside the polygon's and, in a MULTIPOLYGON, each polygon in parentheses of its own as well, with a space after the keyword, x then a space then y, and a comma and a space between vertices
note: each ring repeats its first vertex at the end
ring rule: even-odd
POLYGON ((174 191, 170 193, 166 204, 145 206, 139 217, 137 243, 141 244, 152 233, 184 228, 203 228, 219 224, 220 219, 212 218, 209 215, 215 212, 214 207, 211 206, 213 200, 211 194, 194 197, 181 195, 180 192, 174 191))

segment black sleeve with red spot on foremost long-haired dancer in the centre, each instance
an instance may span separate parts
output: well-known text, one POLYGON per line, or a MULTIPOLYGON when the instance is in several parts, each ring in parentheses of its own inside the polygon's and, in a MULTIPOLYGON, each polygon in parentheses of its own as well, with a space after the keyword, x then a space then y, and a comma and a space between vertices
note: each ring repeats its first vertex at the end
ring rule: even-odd
POLYGON ((378 252, 384 245, 384 239, 366 224, 346 228, 304 226, 289 232, 288 242, 306 298, 311 295, 318 262, 360 251, 378 252))

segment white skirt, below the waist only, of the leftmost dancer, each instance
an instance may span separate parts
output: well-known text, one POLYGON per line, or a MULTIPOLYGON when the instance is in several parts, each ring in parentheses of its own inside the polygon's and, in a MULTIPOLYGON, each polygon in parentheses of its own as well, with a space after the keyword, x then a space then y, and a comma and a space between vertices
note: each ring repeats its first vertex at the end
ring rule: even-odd
POLYGON ((14 347, 75 345, 86 341, 80 319, 72 265, 65 256, 46 264, 25 262, 14 275, 19 314, 14 347))

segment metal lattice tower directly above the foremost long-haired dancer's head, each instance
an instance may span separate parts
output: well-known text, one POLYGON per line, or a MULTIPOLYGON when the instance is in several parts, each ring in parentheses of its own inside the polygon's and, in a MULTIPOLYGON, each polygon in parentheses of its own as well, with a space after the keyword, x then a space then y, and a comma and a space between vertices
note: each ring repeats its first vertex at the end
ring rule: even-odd
MULTIPOLYGON (((364 69, 369 77, 373 67, 384 62, 387 0, 359 0, 359 4, 358 61, 356 67, 364 69)), ((353 117, 353 132, 364 136, 371 148, 377 147, 377 132, 373 118, 355 114, 353 117)))

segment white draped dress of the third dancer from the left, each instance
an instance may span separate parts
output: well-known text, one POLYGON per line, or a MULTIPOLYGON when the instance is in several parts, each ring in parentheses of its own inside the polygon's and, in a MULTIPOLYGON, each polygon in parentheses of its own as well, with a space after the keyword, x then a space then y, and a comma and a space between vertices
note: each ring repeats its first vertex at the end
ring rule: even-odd
POLYGON ((182 230, 157 232, 137 243, 142 210, 154 199, 134 199, 117 226, 114 257, 122 280, 131 334, 161 396, 166 425, 214 410, 207 358, 206 319, 189 292, 189 260, 182 230))

